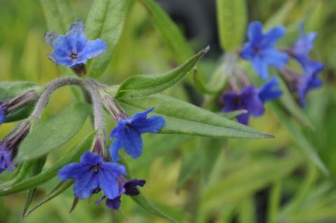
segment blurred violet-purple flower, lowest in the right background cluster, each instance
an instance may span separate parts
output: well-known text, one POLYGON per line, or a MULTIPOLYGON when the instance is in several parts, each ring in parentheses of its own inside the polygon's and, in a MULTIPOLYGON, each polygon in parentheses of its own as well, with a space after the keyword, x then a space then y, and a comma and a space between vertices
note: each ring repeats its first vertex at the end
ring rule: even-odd
POLYGON ((260 117, 264 114, 265 109, 259 98, 258 89, 253 86, 244 87, 240 93, 227 92, 222 96, 224 107, 222 111, 225 113, 235 110, 247 110, 247 113, 237 116, 237 120, 241 124, 248 124, 250 115, 260 117))

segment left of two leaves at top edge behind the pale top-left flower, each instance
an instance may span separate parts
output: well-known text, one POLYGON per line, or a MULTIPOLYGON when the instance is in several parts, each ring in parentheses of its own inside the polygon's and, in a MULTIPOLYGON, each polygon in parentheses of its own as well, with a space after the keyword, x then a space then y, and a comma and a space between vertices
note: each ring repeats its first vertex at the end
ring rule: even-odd
POLYGON ((50 31, 65 34, 70 24, 76 20, 75 10, 68 0, 40 0, 50 31))

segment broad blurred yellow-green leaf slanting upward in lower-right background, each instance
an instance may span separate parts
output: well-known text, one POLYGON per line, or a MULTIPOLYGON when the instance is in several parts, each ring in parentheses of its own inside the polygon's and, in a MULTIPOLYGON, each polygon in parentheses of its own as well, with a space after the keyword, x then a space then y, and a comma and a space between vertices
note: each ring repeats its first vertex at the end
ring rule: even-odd
POLYGON ((302 157, 296 155, 280 160, 267 159, 253 161, 228 175, 204 192, 204 206, 214 207, 223 203, 239 201, 272 180, 283 178, 302 163, 302 157), (266 171, 266 172, 265 172, 266 171))

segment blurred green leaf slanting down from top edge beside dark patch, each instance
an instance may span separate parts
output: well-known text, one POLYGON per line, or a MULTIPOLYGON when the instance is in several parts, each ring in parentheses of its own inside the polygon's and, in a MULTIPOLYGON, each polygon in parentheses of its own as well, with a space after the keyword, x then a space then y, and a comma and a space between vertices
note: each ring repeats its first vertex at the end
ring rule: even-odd
POLYGON ((138 0, 148 10, 155 27, 161 32, 167 43, 175 51, 175 57, 178 62, 184 62, 193 55, 193 50, 186 41, 176 23, 167 15, 165 10, 153 0, 138 0))

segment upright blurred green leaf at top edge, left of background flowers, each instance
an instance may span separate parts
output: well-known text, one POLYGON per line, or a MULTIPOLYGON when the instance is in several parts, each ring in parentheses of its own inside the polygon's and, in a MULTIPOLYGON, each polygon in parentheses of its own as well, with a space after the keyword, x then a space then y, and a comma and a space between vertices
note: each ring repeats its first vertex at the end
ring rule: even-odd
POLYGON ((216 0, 219 39, 223 50, 232 52, 244 41, 247 13, 245 0, 216 0))

